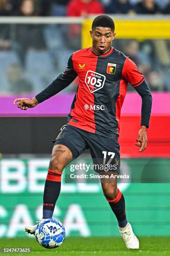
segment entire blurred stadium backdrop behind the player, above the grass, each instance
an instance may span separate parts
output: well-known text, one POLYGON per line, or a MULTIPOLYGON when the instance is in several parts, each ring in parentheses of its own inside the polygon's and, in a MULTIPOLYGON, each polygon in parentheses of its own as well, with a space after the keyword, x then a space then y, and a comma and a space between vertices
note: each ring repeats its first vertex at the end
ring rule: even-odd
MULTIPOLYGON (((36 95, 74 51, 91 46, 92 20, 102 13, 115 20, 113 47, 137 64, 153 95, 142 154, 134 146, 141 98, 131 85, 122 107, 121 172, 133 174, 119 184, 127 218, 137 236, 170 236, 170 0, 0 0, 0 237, 27 236, 25 225, 41 220, 51 141, 67 122, 79 81, 26 112, 13 100, 36 95)), ((91 161, 88 151, 81 160, 91 161)), ((69 184, 63 175, 54 217, 67 236, 119 235, 98 183, 69 184)))

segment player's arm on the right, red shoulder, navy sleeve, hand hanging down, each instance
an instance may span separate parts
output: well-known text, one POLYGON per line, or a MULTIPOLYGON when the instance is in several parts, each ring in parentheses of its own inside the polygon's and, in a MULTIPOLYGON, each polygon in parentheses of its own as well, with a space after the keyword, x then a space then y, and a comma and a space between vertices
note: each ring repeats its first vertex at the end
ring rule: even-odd
POLYGON ((139 72, 136 64, 129 58, 126 58, 124 62, 122 77, 132 84, 142 98, 141 128, 138 133, 139 138, 136 138, 135 143, 136 146, 140 147, 139 152, 142 152, 147 148, 147 128, 149 128, 152 108, 151 91, 145 82, 144 76, 139 72))

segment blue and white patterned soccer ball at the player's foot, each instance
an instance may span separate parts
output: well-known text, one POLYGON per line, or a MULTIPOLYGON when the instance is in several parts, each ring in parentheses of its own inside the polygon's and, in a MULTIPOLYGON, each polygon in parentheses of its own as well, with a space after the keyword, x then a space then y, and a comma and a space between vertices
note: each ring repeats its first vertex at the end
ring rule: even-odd
POLYGON ((41 246, 47 249, 53 249, 63 243, 66 232, 60 221, 51 218, 38 223, 35 236, 41 246))

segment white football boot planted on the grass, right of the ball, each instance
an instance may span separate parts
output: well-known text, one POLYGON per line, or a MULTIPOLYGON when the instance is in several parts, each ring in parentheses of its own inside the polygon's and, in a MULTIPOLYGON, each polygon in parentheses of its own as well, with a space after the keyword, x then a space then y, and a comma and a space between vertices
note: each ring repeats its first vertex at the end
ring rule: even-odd
POLYGON ((124 228, 119 228, 120 236, 122 236, 124 243, 128 249, 139 249, 139 240, 134 235, 132 226, 130 223, 127 223, 127 225, 124 228))

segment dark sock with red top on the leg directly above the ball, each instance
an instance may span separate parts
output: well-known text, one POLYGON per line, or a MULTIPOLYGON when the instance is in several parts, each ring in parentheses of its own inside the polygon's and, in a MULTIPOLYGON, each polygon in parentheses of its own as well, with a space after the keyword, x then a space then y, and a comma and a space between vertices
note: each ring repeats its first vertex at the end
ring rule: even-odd
POLYGON ((61 190, 61 174, 48 169, 43 195, 43 219, 52 218, 61 190))

